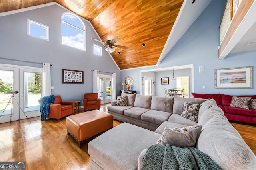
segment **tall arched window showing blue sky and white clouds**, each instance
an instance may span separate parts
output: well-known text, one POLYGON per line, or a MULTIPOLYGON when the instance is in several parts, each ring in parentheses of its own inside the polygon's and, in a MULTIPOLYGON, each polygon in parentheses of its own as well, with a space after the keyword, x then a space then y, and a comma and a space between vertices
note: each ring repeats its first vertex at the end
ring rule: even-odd
POLYGON ((76 15, 69 12, 62 15, 61 43, 86 51, 84 23, 76 15))

